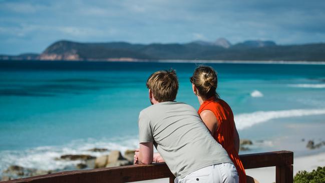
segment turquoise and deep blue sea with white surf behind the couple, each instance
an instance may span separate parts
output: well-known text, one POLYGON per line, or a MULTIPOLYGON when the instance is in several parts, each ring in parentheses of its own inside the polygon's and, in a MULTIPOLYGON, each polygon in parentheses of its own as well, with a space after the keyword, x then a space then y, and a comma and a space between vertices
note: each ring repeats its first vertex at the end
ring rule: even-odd
MULTIPOLYGON (((146 80, 173 68, 177 101, 198 109, 189 77, 194 63, 0 62, 0 174, 9 165, 56 169, 77 163, 63 154, 138 146, 139 112, 150 105, 146 80)), ((218 72, 218 93, 231 106, 251 150, 306 150, 325 140, 325 65, 206 64, 218 72), (304 140, 302 140, 304 139, 304 140)))

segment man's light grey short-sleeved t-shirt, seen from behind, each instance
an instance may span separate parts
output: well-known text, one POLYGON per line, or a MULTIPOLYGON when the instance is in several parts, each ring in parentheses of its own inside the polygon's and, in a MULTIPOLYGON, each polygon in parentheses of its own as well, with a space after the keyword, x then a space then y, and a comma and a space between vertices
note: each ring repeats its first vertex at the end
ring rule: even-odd
POLYGON ((154 142, 171 172, 179 178, 212 164, 232 163, 190 105, 154 104, 140 112, 138 122, 140 143, 154 142))

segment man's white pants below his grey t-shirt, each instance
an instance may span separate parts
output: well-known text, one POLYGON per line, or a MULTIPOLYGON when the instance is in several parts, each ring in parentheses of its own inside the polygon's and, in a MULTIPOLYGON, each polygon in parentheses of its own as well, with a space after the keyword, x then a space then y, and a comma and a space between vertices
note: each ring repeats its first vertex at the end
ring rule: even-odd
POLYGON ((207 166, 186 175, 184 178, 175 178, 175 183, 238 183, 239 176, 236 167, 231 163, 220 163, 207 166))

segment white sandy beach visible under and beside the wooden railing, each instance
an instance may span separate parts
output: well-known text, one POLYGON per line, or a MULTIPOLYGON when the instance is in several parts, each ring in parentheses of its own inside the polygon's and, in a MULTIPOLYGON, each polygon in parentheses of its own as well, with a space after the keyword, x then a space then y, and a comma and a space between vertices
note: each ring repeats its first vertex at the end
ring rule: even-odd
MULTIPOLYGON (((315 154, 315 155, 294 157, 293 175, 295 175, 300 170, 311 171, 313 169, 316 169, 317 166, 325 166, 325 152, 315 154)), ((246 174, 254 177, 260 183, 275 182, 275 166, 265 167, 265 168, 246 169, 246 174)), ((138 181, 138 182, 165 183, 165 182, 169 182, 169 179, 161 178, 161 179, 145 180, 145 181, 138 181)))

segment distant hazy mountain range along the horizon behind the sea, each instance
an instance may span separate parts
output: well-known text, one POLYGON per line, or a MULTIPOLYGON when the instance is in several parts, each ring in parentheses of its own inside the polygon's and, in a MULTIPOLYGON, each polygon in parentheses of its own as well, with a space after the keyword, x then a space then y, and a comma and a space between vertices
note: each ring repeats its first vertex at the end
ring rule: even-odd
POLYGON ((224 38, 186 44, 77 43, 58 41, 41 54, 0 55, 0 60, 136 61, 136 60, 325 61, 325 44, 276 45, 224 38))

